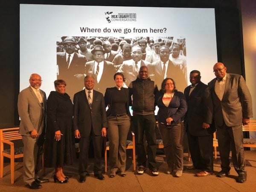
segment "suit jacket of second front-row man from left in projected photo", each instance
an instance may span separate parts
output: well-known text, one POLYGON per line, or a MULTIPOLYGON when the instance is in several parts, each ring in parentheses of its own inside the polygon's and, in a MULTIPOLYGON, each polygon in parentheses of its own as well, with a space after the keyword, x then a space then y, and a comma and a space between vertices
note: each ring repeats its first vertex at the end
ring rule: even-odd
POLYGON ((116 73, 114 64, 109 61, 104 61, 103 73, 99 83, 97 77, 94 74, 95 61, 89 61, 85 64, 86 75, 92 75, 94 77, 94 89, 105 94, 106 87, 113 87, 115 85, 113 76, 116 73))

